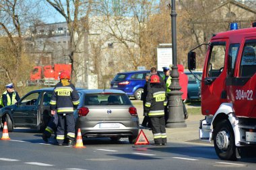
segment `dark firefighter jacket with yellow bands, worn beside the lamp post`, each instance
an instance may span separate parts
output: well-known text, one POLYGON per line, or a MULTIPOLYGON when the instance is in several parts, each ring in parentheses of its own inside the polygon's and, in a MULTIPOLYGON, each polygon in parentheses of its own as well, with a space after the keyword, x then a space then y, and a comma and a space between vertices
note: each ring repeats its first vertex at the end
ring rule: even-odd
POLYGON ((167 104, 166 90, 161 83, 152 84, 146 97, 146 110, 150 117, 164 116, 164 106, 167 104))

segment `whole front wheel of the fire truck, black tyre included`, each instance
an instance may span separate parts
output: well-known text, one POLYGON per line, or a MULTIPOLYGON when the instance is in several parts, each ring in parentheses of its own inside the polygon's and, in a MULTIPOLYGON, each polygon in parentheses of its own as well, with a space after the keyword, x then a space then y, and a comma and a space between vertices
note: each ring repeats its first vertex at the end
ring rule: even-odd
POLYGON ((236 161, 236 146, 234 144, 234 132, 227 120, 216 124, 214 129, 214 148, 220 159, 236 161))

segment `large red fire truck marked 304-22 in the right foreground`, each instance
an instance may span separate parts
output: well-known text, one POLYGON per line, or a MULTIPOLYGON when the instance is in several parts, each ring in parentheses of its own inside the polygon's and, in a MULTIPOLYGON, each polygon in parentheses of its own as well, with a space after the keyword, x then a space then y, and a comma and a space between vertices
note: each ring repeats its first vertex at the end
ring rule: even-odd
MULTIPOLYGON (((256 146, 256 27, 236 30, 233 23, 230 28, 206 44, 201 80, 205 119, 200 121, 199 137, 214 140, 220 159, 236 160, 256 146)), ((196 48, 188 54, 191 73, 196 48)))

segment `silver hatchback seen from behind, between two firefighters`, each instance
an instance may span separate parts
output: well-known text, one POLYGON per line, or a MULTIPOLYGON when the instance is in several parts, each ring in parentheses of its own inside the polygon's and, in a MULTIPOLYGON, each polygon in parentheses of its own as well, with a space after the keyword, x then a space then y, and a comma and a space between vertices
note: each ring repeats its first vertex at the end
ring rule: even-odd
POLYGON ((80 104, 75 113, 76 129, 83 137, 129 138, 139 133, 137 110, 125 92, 115 89, 79 90, 80 104))

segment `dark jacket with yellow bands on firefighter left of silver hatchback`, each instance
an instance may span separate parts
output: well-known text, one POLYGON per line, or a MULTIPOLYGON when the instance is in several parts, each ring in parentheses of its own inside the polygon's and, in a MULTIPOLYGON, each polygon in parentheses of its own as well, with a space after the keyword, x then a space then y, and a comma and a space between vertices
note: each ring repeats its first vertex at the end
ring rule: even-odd
POLYGON ((58 114, 72 113, 73 108, 79 104, 79 95, 72 83, 63 86, 62 83, 57 83, 54 88, 50 102, 51 110, 56 110, 58 114))

